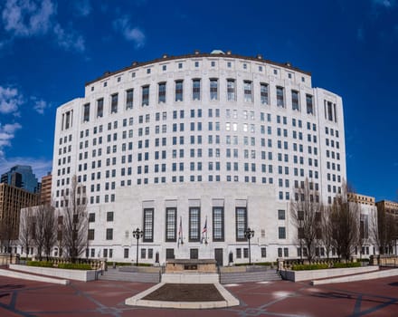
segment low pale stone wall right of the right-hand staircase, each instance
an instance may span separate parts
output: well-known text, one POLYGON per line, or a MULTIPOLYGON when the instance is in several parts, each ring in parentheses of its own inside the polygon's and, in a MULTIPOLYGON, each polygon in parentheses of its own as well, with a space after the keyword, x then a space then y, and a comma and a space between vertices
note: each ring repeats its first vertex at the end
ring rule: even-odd
POLYGON ((363 266, 363 267, 347 267, 341 269, 324 269, 324 270, 308 270, 308 271, 290 271, 281 270, 280 275, 284 280, 293 282, 316 280, 320 278, 329 278, 334 276, 350 275, 374 272, 379 269, 378 266, 363 266))

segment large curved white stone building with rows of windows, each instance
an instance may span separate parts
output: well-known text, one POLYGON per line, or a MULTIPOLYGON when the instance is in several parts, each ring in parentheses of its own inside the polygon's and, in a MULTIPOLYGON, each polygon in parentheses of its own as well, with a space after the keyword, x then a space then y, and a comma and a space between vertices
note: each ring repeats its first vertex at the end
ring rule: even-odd
POLYGON ((57 110, 55 207, 76 175, 89 257, 297 257, 289 202, 306 179, 331 203, 346 179, 341 98, 289 63, 213 51, 133 62, 57 110))

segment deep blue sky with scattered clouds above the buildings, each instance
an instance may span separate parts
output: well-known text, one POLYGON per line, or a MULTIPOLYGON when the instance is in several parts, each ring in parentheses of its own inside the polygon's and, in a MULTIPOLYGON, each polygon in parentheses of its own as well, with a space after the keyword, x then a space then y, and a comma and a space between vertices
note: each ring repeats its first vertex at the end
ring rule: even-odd
POLYGON ((398 196, 398 0, 0 3, 0 173, 52 167, 56 108, 103 72, 213 49, 291 62, 342 96, 347 178, 398 196))

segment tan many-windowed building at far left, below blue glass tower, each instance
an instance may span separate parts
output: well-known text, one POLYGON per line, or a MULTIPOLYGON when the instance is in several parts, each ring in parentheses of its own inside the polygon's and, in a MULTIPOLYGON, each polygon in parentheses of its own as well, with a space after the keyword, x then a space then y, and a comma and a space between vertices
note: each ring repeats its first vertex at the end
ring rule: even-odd
POLYGON ((0 184, 0 247, 7 252, 10 241, 18 238, 21 208, 37 205, 38 196, 24 189, 0 184))

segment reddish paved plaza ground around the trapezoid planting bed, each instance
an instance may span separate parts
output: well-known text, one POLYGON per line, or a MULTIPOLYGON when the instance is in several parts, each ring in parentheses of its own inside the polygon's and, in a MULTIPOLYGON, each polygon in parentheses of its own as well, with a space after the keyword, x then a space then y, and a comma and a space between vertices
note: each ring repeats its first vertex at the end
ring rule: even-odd
POLYGON ((213 310, 128 306, 150 283, 57 285, 0 277, 0 316, 398 316, 398 276, 311 286, 288 281, 224 285, 240 305, 213 310))

